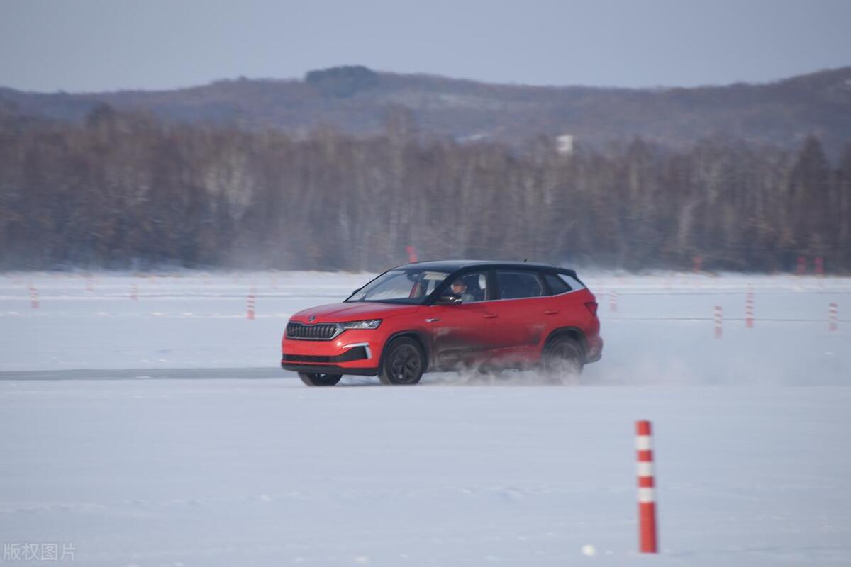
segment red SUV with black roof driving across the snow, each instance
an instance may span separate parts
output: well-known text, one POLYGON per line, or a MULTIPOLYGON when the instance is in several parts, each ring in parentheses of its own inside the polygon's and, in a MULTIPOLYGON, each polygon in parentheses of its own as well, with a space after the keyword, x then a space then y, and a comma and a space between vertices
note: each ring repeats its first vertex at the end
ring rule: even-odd
POLYGON ((415 384, 463 368, 578 373, 600 360, 603 339, 594 294, 572 269, 449 260, 389 269, 343 303, 296 313, 281 349, 284 370, 310 386, 344 374, 415 384))

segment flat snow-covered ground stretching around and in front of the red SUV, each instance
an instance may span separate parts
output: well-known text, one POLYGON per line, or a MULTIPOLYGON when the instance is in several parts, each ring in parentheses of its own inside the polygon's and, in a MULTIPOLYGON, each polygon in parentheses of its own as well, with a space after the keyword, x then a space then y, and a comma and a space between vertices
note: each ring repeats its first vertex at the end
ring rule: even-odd
POLYGON ((55 543, 87 565, 851 564, 851 280, 584 276, 606 339, 590 385, 415 388, 306 388, 277 366, 288 315, 368 275, 0 277, 0 558, 55 543), (636 553, 639 418, 657 557, 636 553))

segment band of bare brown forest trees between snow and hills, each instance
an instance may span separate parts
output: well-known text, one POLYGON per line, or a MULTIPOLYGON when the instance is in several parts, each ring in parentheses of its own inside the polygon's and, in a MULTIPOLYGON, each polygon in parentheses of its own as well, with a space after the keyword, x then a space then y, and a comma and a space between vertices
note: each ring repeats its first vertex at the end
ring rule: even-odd
POLYGON ((404 115, 353 137, 0 113, 0 268, 376 270, 508 258, 623 269, 851 271, 851 144, 640 139, 565 155, 424 139, 404 115))

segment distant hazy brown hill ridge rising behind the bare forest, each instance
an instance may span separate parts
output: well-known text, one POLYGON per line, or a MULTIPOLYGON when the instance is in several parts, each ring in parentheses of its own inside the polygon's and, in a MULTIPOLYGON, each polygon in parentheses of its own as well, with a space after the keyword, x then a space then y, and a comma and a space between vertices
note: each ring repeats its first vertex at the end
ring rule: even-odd
POLYGON ((727 136, 797 148, 814 133, 836 156, 851 140, 851 66, 767 84, 700 88, 528 87, 360 66, 311 71, 304 80, 239 78, 168 91, 0 88, 0 111, 20 114, 82 121, 102 103, 175 121, 294 133, 319 125, 374 133, 386 127, 388 116, 412 116, 426 135, 510 144, 567 133, 591 146, 636 136, 668 146, 727 136))

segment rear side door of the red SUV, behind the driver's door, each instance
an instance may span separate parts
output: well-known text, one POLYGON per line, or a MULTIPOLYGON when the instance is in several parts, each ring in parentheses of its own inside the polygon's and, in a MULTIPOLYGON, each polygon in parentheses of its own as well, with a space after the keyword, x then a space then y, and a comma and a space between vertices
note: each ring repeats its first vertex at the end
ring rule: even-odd
POLYGON ((497 269, 499 316, 505 343, 498 355, 507 363, 533 362, 547 330, 546 318, 556 315, 540 274, 533 269, 497 269))

